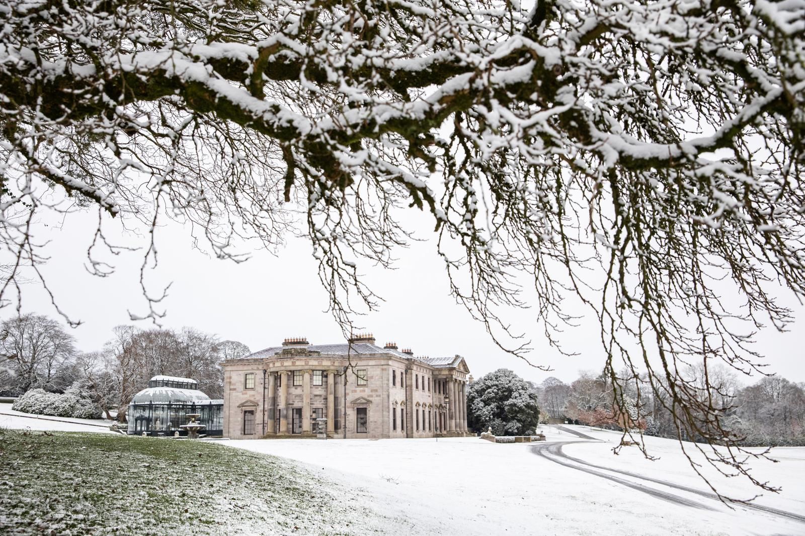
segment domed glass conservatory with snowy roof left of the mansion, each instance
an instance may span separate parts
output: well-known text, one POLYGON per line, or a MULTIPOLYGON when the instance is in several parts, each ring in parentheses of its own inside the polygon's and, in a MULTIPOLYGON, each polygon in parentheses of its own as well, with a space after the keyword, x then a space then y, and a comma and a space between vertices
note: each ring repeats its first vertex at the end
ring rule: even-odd
POLYGON ((182 424, 190 422, 188 415, 198 414, 197 422, 206 428, 200 433, 221 436, 224 431, 224 401, 211 400, 198 390, 191 378, 154 376, 148 387, 134 395, 129 404, 130 434, 141 436, 187 436, 182 424))

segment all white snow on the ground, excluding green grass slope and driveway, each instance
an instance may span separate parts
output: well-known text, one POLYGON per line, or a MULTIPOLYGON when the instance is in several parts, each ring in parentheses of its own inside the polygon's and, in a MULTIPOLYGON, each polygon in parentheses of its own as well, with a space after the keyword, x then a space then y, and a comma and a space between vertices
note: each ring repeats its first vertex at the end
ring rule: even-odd
MULTIPOLYGON (((92 420, 8 415, 0 404, 0 427, 66 432, 107 432, 90 426, 92 420), (59 420, 45 420, 59 419, 59 420), (75 421, 75 422, 72 422, 75 421)), ((18 412, 14 412, 18 413, 18 412)), ((24 414, 23 414, 24 415, 24 414)), ((708 491, 687 465, 679 445, 646 438, 656 461, 646 460, 635 447, 611 448, 617 432, 569 427, 602 441, 585 441, 552 428, 549 443, 564 445, 568 456, 588 463, 671 481, 708 491)), ((367 523, 377 534, 648 534, 719 536, 805 534, 805 523, 745 509, 729 509, 718 501, 663 485, 650 485, 692 501, 699 508, 679 505, 596 475, 583 473, 536 456, 531 444, 493 444, 477 438, 436 440, 233 440, 216 442, 284 456, 307 464, 313 475, 345 485, 353 499, 380 513, 389 526, 367 523)), ((774 450, 779 463, 753 461, 755 474, 783 488, 766 493, 758 505, 802 515, 805 513, 805 448, 774 450)), ((568 462, 568 460, 564 460, 568 462)), ((570 464, 575 462, 569 461, 570 464)), ((606 473, 606 471, 603 471, 606 473)), ((645 481, 612 473, 626 481, 645 481)), ((718 489, 733 495, 755 494, 737 478, 715 480, 718 489)), ((349 497, 345 497, 345 504, 349 497)), ((350 503, 353 504, 353 503, 350 503)), ((356 518, 357 525, 361 519, 356 518)), ((353 525, 354 528, 354 525, 353 525)))

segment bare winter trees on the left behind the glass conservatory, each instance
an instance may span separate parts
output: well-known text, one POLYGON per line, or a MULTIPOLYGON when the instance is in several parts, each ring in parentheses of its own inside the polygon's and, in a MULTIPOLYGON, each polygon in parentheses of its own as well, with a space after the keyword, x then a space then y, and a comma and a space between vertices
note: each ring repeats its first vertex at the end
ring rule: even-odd
POLYGON ((237 341, 194 328, 137 329, 121 325, 101 350, 81 352, 75 338, 58 321, 23 314, 0 324, 0 396, 18 396, 31 389, 62 393, 73 384, 93 393, 104 410, 126 405, 157 374, 194 378, 210 398, 223 397, 224 374, 219 363, 250 353, 237 341))

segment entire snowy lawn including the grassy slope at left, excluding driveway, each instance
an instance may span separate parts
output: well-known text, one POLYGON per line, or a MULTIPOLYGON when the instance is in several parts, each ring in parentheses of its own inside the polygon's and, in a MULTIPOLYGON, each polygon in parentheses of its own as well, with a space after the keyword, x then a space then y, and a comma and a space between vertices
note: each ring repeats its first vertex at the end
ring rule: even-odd
MULTIPOLYGON (((31 425, 104 432, 80 422, 0 415, 0 428, 38 429, 31 425)), ((547 428, 549 444, 580 441, 564 445, 568 456, 708 491, 674 441, 646 438, 650 452, 660 457, 650 461, 634 447, 614 456, 616 432, 569 428, 602 441, 547 428)), ((532 444, 476 438, 190 442, 39 432, 26 437, 39 447, 11 452, 0 436, 3 534, 35 533, 35 520, 64 528, 77 520, 81 530, 101 532, 120 526, 124 534, 805 534, 805 523, 741 506, 730 510, 706 497, 651 485, 699 507, 671 503, 536 456, 532 444), (188 474, 196 481, 185 481, 188 474), (60 498, 73 495, 77 500, 60 498), (188 514, 196 520, 191 525, 183 518, 188 514)), ((801 515, 805 448, 774 453, 778 464, 753 462, 753 467, 783 491, 766 493, 758 505, 801 515)), ((714 484, 733 495, 756 493, 737 478, 714 484)))

